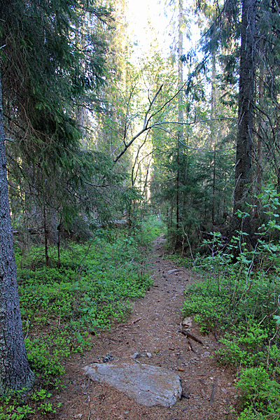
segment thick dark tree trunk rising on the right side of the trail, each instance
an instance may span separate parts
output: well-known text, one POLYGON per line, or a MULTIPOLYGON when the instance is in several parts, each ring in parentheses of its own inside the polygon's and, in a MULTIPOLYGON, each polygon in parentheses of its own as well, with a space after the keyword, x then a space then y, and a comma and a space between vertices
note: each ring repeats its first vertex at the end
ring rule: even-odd
MULTIPOLYGON (((234 207, 231 237, 237 232, 251 234, 250 216, 239 217, 237 211, 250 213, 248 209, 251 190, 251 156, 253 144, 253 97, 254 97, 254 38, 256 0, 242 1, 241 50, 239 70, 239 104, 237 155, 235 167, 234 207)), ((241 242, 249 243, 249 237, 241 235, 241 242)), ((239 248, 240 250, 240 248, 239 248)))

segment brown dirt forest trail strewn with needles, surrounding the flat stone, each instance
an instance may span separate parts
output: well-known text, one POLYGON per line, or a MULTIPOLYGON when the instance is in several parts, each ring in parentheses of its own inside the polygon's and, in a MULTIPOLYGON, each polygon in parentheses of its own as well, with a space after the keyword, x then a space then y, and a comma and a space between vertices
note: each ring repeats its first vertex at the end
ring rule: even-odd
POLYGON ((220 344, 214 335, 202 335, 194 321, 190 332, 203 344, 178 332, 183 320, 183 292, 200 279, 197 274, 162 258, 164 241, 161 235, 153 242, 149 264, 154 283, 145 297, 134 303, 130 317, 113 326, 111 332, 94 337, 89 353, 73 355, 67 360, 65 389, 55 397, 62 407, 55 419, 236 419, 230 409, 238 395, 234 373, 209 357, 220 344), (143 407, 108 385, 91 381, 83 373, 85 365, 102 363, 109 353, 113 362, 125 362, 137 352, 140 363, 165 367, 181 377, 183 397, 173 407, 143 407))

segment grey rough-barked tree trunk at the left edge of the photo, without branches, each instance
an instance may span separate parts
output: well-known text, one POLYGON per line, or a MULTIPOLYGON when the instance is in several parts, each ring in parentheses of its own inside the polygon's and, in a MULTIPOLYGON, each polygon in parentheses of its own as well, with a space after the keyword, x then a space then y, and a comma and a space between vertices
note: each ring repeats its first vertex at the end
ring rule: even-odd
POLYGON ((31 388, 33 378, 27 361, 20 317, 8 201, 0 80, 0 394, 9 390, 31 388))

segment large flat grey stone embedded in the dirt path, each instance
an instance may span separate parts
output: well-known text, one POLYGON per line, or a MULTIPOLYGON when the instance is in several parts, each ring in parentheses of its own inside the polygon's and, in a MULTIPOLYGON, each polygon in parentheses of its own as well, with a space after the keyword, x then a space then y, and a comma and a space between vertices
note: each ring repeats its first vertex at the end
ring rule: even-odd
POLYGON ((181 398, 178 374, 141 363, 92 363, 83 368, 93 381, 106 382, 141 405, 174 405, 181 398))

